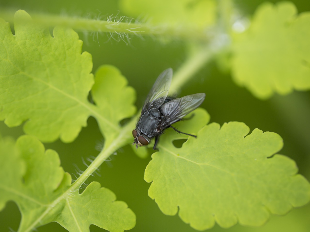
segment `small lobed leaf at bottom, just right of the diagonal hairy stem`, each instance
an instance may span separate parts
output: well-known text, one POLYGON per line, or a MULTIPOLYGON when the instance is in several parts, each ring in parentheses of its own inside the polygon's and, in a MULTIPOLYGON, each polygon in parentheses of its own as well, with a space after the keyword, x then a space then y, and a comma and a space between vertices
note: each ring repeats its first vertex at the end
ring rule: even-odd
POLYGON ((93 224, 108 231, 130 230, 135 226, 135 214, 123 201, 100 183, 90 183, 82 194, 78 191, 66 200, 56 221, 69 231, 89 231, 93 224))

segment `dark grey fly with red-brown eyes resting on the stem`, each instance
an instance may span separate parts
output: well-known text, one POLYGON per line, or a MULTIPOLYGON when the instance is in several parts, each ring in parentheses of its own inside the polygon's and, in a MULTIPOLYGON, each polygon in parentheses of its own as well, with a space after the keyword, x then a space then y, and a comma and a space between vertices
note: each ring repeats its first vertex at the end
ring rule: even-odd
POLYGON ((196 138, 195 135, 178 131, 175 127, 171 126, 171 124, 180 121, 185 115, 201 105, 205 100, 206 94, 196 93, 175 99, 167 97, 171 80, 172 69, 168 68, 158 76, 149 92, 142 107, 141 115, 136 123, 136 128, 132 131, 136 148, 138 148, 138 145, 148 145, 155 137, 153 149, 156 150, 160 135, 162 135, 168 127, 171 127, 181 134, 196 138))

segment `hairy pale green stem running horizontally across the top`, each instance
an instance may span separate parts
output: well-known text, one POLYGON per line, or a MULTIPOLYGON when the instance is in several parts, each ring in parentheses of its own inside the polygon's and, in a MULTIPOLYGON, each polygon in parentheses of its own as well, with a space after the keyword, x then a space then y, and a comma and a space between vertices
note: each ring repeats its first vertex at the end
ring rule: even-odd
MULTIPOLYGON (((13 11, 0 10, 0 16, 10 23, 14 21, 13 15, 13 11)), ((35 13, 31 13, 30 15, 38 24, 48 27, 55 27, 57 25, 67 26, 81 32, 116 33, 121 37, 127 37, 128 34, 134 34, 137 36, 161 36, 164 38, 177 38, 188 41, 209 41, 208 33, 205 28, 189 26, 177 27, 171 24, 151 25, 148 23, 133 23, 132 21, 134 20, 128 21, 128 17, 126 16, 119 17, 118 20, 112 21, 109 17, 108 20, 99 20, 35 13)))

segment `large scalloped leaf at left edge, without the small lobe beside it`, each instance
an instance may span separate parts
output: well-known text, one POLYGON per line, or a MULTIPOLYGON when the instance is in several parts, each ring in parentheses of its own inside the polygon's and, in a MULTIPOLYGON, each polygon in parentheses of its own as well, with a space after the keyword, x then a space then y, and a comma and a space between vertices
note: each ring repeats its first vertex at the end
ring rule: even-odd
POLYGON ((26 133, 42 141, 60 136, 70 142, 89 114, 91 55, 81 54, 82 41, 72 29, 56 27, 52 37, 29 18, 25 11, 15 13, 15 35, 0 22, 0 119, 9 127, 30 119, 26 133))

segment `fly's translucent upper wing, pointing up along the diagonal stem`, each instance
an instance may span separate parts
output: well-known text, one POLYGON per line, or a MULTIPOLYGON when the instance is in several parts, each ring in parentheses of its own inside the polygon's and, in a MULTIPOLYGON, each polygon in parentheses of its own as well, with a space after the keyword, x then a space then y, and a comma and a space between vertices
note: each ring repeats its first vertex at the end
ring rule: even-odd
POLYGON ((172 80, 172 68, 168 68, 165 71, 163 71, 155 81, 151 91, 148 94, 148 97, 146 98, 142 111, 141 116, 144 114, 144 112, 150 110, 151 108, 159 108, 165 101, 170 84, 172 80))

